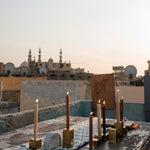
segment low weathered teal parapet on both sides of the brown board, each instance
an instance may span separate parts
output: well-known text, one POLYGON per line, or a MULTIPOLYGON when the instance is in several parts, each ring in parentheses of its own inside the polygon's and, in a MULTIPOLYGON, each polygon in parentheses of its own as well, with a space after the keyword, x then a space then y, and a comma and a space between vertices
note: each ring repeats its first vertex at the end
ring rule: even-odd
MULTIPOLYGON (((92 112, 92 101, 76 101, 70 103, 70 115, 88 117, 92 112)), ((66 115, 66 105, 59 104, 39 109, 39 122, 66 115)), ((97 115, 96 115, 97 116, 97 115)), ((12 131, 33 124, 34 112, 25 111, 0 117, 0 133, 12 131)), ((112 109, 106 110, 107 118, 114 118, 112 109)), ((124 117, 133 121, 145 121, 144 104, 125 103, 124 117)))

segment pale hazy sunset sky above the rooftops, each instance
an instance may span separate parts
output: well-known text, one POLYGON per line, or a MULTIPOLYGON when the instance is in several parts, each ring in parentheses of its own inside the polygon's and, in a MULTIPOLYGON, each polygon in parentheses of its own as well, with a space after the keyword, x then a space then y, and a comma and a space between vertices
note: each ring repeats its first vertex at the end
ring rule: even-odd
POLYGON ((0 0, 0 62, 18 67, 29 49, 96 74, 150 59, 150 0, 0 0))

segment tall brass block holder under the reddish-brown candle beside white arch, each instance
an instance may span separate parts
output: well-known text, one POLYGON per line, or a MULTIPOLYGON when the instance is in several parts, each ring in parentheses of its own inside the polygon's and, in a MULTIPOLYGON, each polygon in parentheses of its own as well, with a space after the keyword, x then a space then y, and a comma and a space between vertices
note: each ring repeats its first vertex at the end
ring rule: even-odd
POLYGON ((63 147, 71 148, 74 144, 74 130, 73 129, 64 129, 63 130, 63 147))

